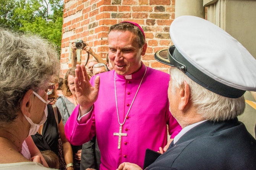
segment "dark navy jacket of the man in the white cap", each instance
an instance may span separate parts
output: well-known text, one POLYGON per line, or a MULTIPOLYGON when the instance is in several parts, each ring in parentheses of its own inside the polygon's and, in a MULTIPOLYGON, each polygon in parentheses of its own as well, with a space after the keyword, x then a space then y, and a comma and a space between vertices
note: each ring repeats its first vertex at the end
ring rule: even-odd
POLYGON ((256 141, 238 119, 189 130, 147 170, 256 170, 256 141))

